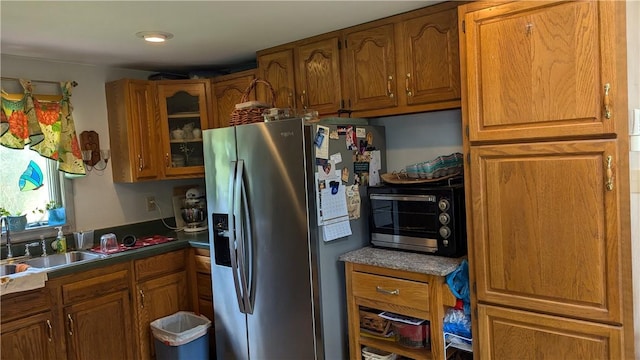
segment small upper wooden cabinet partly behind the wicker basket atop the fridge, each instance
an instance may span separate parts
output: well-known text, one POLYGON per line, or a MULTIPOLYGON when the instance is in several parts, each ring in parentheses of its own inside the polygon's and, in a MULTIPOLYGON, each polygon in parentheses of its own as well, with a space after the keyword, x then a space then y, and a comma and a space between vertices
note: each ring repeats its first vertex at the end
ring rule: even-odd
MULTIPOLYGON (((246 70, 230 75, 218 76, 213 79, 213 92, 215 97, 214 128, 229 126, 231 113, 235 110, 236 104, 242 102, 242 96, 255 77, 255 70, 246 70)), ((249 94, 248 101, 255 99, 255 90, 253 90, 249 94)))

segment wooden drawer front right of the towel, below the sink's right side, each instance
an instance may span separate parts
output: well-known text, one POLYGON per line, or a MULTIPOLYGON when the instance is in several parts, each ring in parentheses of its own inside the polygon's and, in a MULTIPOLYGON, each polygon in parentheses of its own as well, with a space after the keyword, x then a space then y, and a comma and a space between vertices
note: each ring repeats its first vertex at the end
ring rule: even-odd
POLYGON ((127 289, 129 286, 129 271, 119 270, 111 274, 92 277, 62 285, 62 299, 65 304, 95 299, 112 292, 127 289))

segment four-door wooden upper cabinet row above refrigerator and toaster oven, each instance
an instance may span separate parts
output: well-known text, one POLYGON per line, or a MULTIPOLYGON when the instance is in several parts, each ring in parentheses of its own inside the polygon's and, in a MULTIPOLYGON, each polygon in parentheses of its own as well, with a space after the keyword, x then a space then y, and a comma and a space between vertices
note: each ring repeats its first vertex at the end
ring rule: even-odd
MULTIPOLYGON (((397 115, 460 107, 457 4, 447 2, 257 53, 279 107, 397 115)), ((264 92, 258 94, 265 100, 264 92)), ((268 99, 267 99, 268 100, 268 99)))

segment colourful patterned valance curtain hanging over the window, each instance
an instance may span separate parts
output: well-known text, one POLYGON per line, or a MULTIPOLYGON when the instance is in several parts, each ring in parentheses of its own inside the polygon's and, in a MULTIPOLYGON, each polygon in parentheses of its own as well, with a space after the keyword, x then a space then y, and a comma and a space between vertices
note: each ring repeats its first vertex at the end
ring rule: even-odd
POLYGON ((56 160, 58 170, 84 175, 85 167, 71 112, 72 82, 61 82, 62 99, 38 100, 30 80, 20 79, 24 96, 15 100, 2 92, 0 144, 12 149, 30 145, 40 155, 56 160))

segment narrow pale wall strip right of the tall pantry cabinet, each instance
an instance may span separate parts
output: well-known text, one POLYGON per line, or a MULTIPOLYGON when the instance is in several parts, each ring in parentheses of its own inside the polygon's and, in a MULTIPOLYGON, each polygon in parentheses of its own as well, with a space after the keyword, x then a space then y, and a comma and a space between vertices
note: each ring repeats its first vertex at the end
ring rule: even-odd
MULTIPOLYGON (((629 118, 640 109, 640 2, 627 1, 627 80, 629 118)), ((629 153, 631 174, 631 246, 633 259, 633 304, 636 359, 640 359, 640 151, 629 153)))

